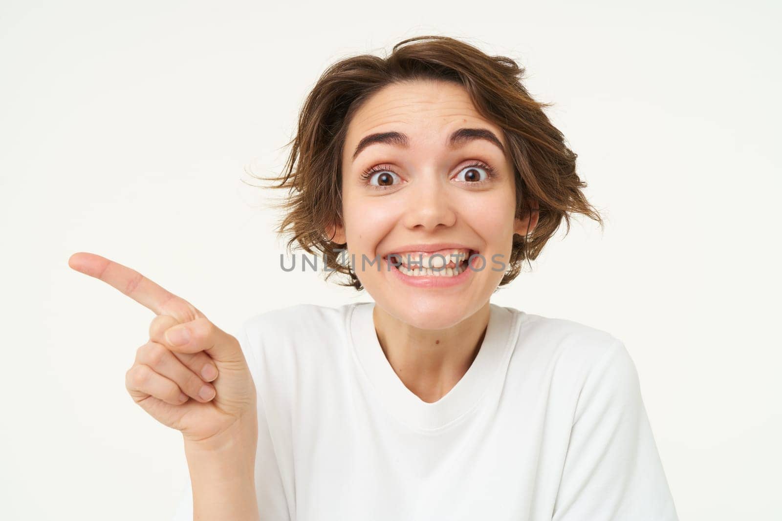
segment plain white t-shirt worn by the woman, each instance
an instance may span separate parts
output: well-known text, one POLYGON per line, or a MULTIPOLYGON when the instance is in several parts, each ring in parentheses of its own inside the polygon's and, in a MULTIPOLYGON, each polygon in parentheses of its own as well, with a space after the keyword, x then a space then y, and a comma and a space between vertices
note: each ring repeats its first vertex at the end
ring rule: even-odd
MULTIPOLYGON (((472 366, 426 403, 383 354, 374 305, 244 323, 261 519, 677 519, 617 338, 491 304, 472 366)), ((189 484, 176 519, 192 519, 189 484)))

